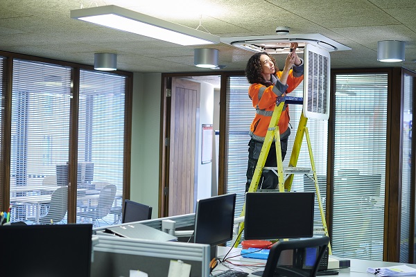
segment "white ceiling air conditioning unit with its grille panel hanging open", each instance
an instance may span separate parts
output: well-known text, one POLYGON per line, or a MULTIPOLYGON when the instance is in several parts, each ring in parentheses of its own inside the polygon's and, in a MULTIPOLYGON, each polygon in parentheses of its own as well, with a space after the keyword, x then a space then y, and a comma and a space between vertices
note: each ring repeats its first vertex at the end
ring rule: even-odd
MULTIPOLYGON (((276 29, 277 30, 277 29, 276 29)), ((331 57, 329 52, 351 50, 321 34, 221 37, 220 41, 252 52, 284 54, 297 42, 296 52, 304 53, 304 116, 328 120, 331 57)))

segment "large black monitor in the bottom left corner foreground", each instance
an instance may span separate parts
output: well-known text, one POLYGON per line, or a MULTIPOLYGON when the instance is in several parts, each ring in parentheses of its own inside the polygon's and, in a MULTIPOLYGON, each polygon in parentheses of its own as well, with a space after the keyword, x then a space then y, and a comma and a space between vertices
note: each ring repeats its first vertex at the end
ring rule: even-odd
POLYGON ((0 227, 1 276, 91 276, 92 224, 0 227))

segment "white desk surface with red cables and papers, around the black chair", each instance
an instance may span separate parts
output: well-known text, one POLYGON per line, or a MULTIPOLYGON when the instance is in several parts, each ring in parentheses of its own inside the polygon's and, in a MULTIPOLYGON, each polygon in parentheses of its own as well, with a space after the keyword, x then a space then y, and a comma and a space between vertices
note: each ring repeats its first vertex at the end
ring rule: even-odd
MULTIPOLYGON (((217 253, 219 258, 223 258, 227 251, 229 251, 230 247, 218 247, 217 253)), ((251 274, 254 271, 262 271, 264 266, 261 267, 260 265, 266 265, 267 260, 257 260, 251 258, 243 258, 238 256, 240 254, 241 249, 233 248, 231 252, 227 255, 229 258, 228 260, 231 263, 225 263, 229 268, 241 270, 250 273, 248 276, 256 276, 251 274), (242 266, 245 265, 245 266, 242 266), (255 266, 258 265, 258 266, 255 266)), ((345 269, 339 269, 338 275, 333 275, 333 277, 376 277, 374 274, 367 273, 368 267, 391 267, 393 265, 408 265, 409 267, 416 268, 415 264, 404 264, 403 262, 383 262, 379 260, 359 260, 359 259, 349 259, 351 262, 351 267, 345 269)), ((225 265, 218 265, 212 274, 218 274, 220 271, 227 270, 228 268, 225 265)), ((257 276, 258 277, 258 276, 257 276)))

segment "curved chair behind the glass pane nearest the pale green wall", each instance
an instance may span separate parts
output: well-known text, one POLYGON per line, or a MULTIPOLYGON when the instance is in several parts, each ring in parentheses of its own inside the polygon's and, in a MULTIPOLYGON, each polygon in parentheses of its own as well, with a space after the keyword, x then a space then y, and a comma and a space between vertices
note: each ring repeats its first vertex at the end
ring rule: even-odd
POLYGON ((93 221, 94 226, 99 226, 98 220, 102 220, 107 216, 116 197, 116 185, 110 183, 96 184, 96 188, 101 187, 98 195, 98 204, 95 206, 89 206, 88 211, 78 213, 80 217, 89 218, 93 221))

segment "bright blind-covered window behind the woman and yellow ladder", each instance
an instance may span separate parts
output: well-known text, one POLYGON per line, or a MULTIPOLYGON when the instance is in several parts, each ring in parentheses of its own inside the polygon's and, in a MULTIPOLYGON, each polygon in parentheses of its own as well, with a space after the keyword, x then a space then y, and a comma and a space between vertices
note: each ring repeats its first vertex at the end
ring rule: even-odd
MULTIPOLYGON (((227 80, 227 119, 226 119, 226 142, 225 142, 225 187, 227 193, 236 193, 236 216, 241 214, 244 204, 245 183, 247 178, 245 172, 248 163, 248 142, 250 141, 250 124, 255 115, 255 109, 248 98, 248 87, 245 76, 230 76, 227 80)), ((303 97, 303 82, 293 91, 290 96, 303 97)), ((297 126, 299 125, 302 105, 290 105, 291 114, 291 136, 289 137, 288 153, 284 160, 284 166, 288 166, 291 158, 291 150, 295 141, 297 126)), ((325 209, 325 194, 327 181, 327 120, 309 120, 307 125, 311 137, 313 157, 315 159, 316 172, 320 186, 323 208, 325 209)), ((302 141, 300 156, 297 162, 299 167, 311 168, 306 136, 302 141)), ((304 177, 295 175, 292 183, 292 191, 315 191, 314 184, 304 177)), ((315 200, 315 221, 317 226, 322 227, 318 201, 315 200)))

